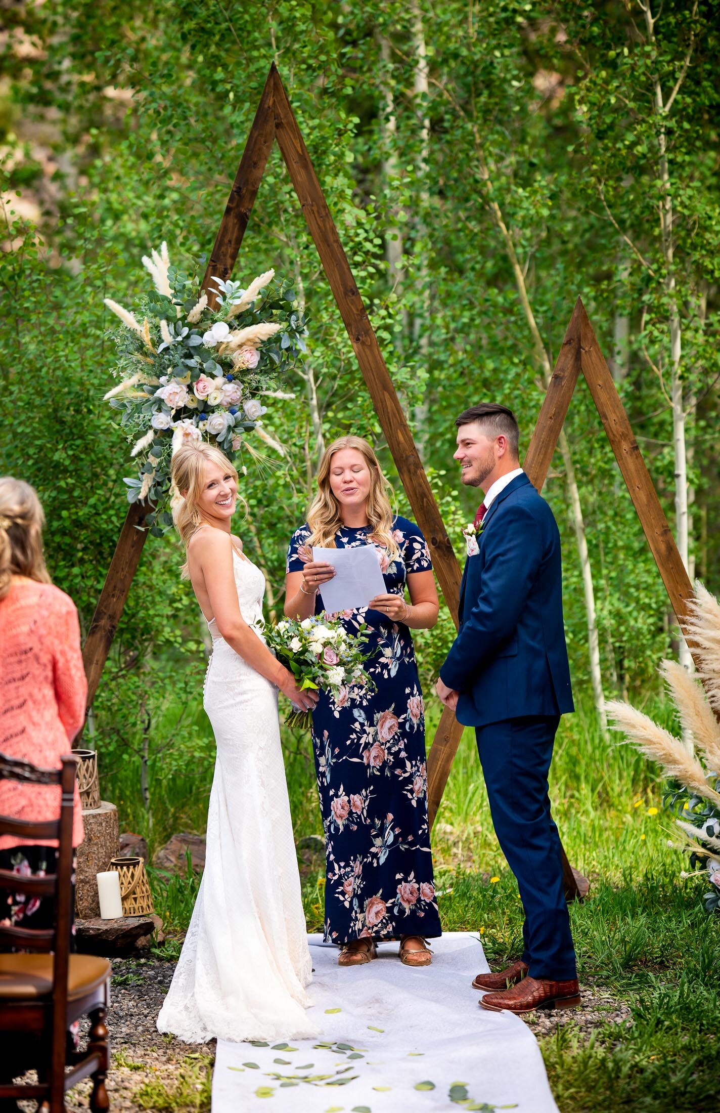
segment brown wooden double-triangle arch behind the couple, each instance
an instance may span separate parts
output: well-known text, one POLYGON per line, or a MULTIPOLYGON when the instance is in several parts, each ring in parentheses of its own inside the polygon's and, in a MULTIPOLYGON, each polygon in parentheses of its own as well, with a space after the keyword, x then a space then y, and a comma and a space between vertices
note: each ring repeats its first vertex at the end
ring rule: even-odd
MULTIPOLYGON (((203 279, 203 287, 208 293, 208 299, 211 303, 213 292, 208 289, 210 279, 213 277, 228 278, 231 274, 275 139, 277 139, 295 193, 300 201, 407 499, 431 548, 435 572, 445 602, 455 624, 457 624, 460 565, 443 525, 440 509, 431 491, 377 338, 357 290, 309 154, 274 63, 265 82, 263 96, 230 190, 203 279)), ((525 456, 525 471, 537 490, 541 490, 581 370, 588 380, 608 437, 630 489, 642 528, 668 589, 670 601, 682 624, 686 612, 684 603, 691 594, 691 584, 580 298, 578 298, 568 327, 525 456)), ((138 529, 138 526, 142 526, 149 509, 149 506, 135 503, 128 510, 90 624, 83 648, 88 678, 88 706, 91 706, 95 698, 138 567, 147 536, 146 531, 138 529)), ((444 710, 427 759, 431 824, 442 799, 462 731, 463 728, 453 712, 444 710)), ((564 853, 563 867, 565 892, 569 897, 575 897, 579 895, 579 889, 564 853)))

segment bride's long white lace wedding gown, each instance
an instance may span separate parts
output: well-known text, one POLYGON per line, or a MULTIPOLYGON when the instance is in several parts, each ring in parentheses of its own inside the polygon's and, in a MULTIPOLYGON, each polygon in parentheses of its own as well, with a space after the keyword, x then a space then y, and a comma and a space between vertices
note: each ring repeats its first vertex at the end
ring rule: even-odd
MULTIPOLYGON (((265 578, 234 553, 240 612, 265 578)), ((217 745, 205 873, 158 1030, 186 1043, 303 1038, 312 966, 277 718, 277 690, 209 624, 204 707, 217 745)))

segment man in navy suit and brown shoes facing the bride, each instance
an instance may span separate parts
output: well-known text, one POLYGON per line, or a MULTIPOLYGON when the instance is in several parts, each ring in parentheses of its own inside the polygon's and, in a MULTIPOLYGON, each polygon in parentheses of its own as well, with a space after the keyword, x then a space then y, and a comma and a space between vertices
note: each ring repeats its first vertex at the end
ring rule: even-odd
POLYGON ((460 630, 437 695, 474 727, 495 834, 525 913, 522 959, 479 974, 480 1004, 499 1012, 580 1004, 563 889, 561 845, 548 796, 560 716, 573 710, 562 618, 560 534, 523 472, 517 422, 482 403, 455 422, 462 481, 482 487, 460 590, 460 630))

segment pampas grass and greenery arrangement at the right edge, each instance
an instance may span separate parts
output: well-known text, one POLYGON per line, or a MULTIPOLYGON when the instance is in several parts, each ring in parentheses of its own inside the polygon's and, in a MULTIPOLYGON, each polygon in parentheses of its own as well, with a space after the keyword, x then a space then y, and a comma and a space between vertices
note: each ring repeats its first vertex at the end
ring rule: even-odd
POLYGON ((720 912, 720 605, 696 580, 688 610, 688 632, 697 647, 698 676, 704 691, 677 661, 660 666, 683 737, 675 738, 622 700, 610 700, 605 706, 615 729, 671 778, 663 805, 675 816, 683 837, 678 849, 689 854, 694 870, 683 870, 681 877, 707 878, 706 909, 720 912))

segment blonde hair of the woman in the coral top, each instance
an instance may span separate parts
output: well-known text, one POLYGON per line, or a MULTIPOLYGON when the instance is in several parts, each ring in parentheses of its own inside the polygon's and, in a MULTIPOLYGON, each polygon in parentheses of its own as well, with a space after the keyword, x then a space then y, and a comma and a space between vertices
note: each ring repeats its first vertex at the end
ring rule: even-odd
POLYGON ((50 583, 42 555, 45 514, 34 487, 11 475, 0 476, 0 599, 13 575, 50 583))

